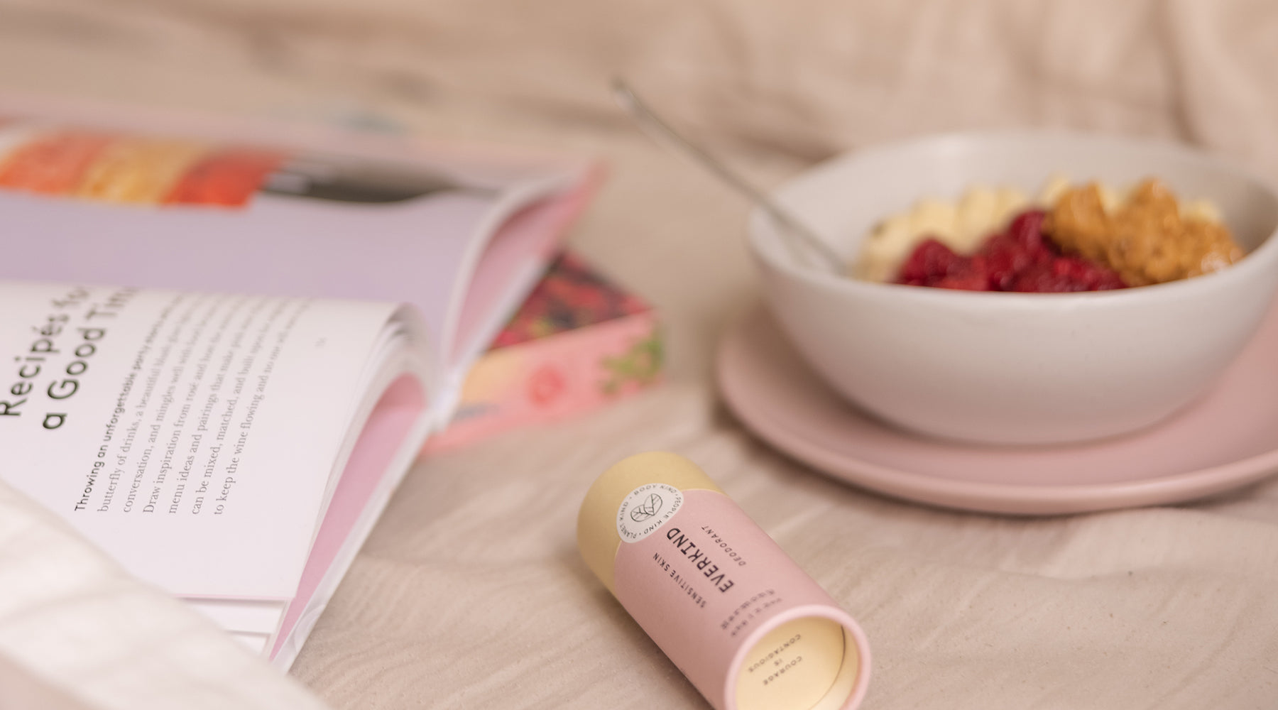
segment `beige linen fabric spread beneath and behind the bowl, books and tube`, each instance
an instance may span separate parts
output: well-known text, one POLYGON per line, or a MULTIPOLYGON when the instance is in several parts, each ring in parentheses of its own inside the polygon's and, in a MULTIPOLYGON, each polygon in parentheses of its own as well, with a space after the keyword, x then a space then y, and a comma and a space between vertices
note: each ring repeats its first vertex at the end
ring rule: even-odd
POLYGON ((1017 520, 773 453, 711 383, 716 338, 755 299, 746 207, 603 91, 625 72, 769 184, 855 146, 1013 125, 1189 140, 1274 179, 1274 66, 1278 8, 1240 0, 0 1, 3 87, 372 110, 611 166, 573 241, 662 309, 670 383, 413 470, 293 670, 351 709, 704 706, 574 545, 589 481, 651 448, 705 467, 863 623, 866 709, 1278 706, 1278 483, 1017 520))

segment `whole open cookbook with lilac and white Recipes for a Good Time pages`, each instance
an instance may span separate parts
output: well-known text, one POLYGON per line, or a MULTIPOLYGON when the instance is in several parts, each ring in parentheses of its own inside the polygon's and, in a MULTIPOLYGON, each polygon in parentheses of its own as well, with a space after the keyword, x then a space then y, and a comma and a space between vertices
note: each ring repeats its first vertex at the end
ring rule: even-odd
POLYGON ((288 668, 596 178, 0 100, 0 476, 288 668))

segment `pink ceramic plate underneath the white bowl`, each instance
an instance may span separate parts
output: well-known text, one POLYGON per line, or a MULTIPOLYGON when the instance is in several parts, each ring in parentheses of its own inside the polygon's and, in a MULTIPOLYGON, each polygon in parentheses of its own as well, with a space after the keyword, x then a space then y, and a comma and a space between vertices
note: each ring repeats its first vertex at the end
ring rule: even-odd
POLYGON ((725 337, 718 382, 759 437, 835 478, 920 503, 1053 515, 1201 498, 1278 471, 1278 309, 1201 400, 1154 429, 1066 447, 923 438, 845 404, 758 306, 725 337))

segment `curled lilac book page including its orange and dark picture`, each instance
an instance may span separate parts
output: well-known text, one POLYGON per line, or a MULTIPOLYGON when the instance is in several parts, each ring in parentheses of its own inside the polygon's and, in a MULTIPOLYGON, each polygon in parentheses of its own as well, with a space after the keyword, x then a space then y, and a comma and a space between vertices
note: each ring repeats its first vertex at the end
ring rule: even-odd
POLYGON ((0 125, 0 212, 17 238, 0 278, 410 303, 445 366, 468 360, 452 356, 459 327, 483 335, 509 315, 584 206, 561 204, 584 176, 575 163, 58 114, 0 125), (469 299, 481 326, 459 323, 502 236, 486 269, 496 298, 469 299))

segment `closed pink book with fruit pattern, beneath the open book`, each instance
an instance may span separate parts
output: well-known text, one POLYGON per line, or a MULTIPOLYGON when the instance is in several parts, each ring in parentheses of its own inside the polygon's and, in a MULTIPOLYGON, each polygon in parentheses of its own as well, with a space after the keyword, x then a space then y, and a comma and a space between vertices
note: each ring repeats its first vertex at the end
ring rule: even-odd
POLYGON ((424 451, 592 411, 661 378, 657 314, 571 253, 475 361, 449 427, 424 451))

